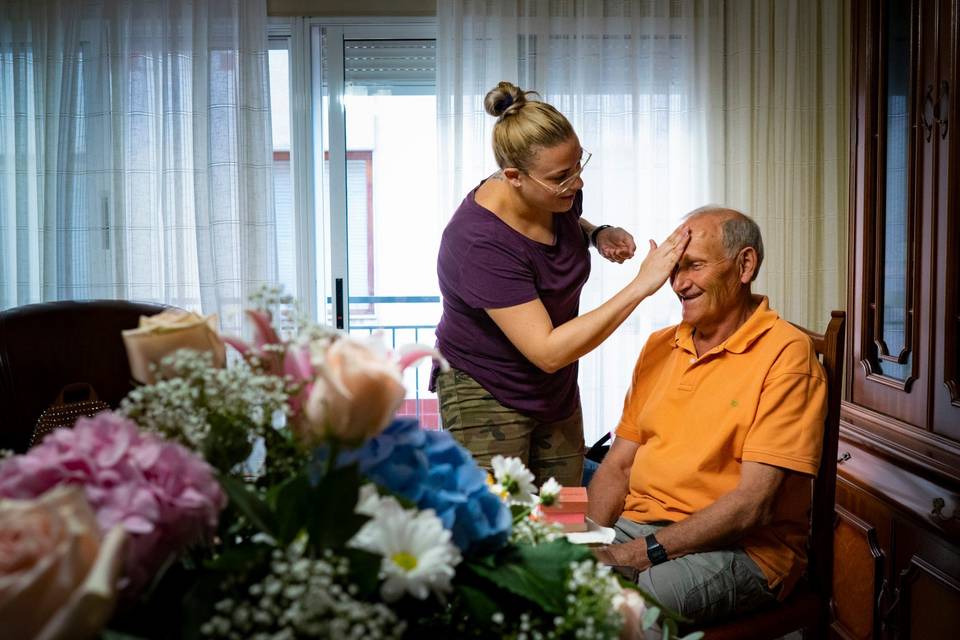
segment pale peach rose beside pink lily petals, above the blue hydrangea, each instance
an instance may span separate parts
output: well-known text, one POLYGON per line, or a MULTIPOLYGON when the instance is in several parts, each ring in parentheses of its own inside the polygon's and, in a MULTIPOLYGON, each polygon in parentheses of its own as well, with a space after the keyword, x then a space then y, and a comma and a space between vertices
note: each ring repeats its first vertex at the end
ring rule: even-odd
POLYGON ((301 440, 360 442, 380 433, 405 394, 401 365, 354 338, 324 346, 314 355, 318 375, 294 423, 301 440))

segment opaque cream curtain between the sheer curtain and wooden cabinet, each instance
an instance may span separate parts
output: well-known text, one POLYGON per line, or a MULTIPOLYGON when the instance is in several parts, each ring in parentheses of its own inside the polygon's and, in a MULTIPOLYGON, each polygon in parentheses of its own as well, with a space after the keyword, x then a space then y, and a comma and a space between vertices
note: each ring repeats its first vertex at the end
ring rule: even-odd
POLYGON ((846 306, 850 140, 847 0, 724 3, 726 145, 716 200, 760 224, 755 290, 823 331, 846 306))

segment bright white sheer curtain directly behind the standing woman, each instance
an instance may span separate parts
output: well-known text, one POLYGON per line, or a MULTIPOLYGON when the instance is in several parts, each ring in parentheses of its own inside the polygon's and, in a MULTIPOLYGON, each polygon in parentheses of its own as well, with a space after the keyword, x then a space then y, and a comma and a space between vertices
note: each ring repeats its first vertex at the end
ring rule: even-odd
MULTIPOLYGON (((533 89, 573 123, 593 159, 584 216, 633 233, 623 265, 594 254, 588 311, 632 278, 647 238, 664 238, 687 211, 722 189, 711 158, 722 148, 722 7, 713 2, 438 2, 437 95, 442 209, 496 169, 494 119, 483 96, 500 80, 533 89)), ((588 444, 620 415, 650 332, 676 322, 668 289, 580 362, 588 444)))

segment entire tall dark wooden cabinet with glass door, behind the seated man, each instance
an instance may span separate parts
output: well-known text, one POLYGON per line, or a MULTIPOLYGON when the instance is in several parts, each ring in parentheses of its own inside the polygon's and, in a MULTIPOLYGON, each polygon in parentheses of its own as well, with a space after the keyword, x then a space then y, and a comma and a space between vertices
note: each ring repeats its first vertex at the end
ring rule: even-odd
POLYGON ((853 0, 834 633, 960 628, 960 2, 853 0))

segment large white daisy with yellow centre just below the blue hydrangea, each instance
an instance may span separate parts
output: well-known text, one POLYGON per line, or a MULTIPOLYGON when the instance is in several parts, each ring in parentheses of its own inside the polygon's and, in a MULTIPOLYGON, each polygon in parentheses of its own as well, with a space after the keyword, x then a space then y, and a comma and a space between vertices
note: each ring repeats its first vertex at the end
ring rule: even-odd
MULTIPOLYGON (((364 493, 358 511, 374 504, 369 492, 364 493)), ((347 545, 383 556, 380 595, 384 601, 396 602, 404 593, 425 600, 431 591, 438 595, 450 591, 460 551, 433 509, 404 509, 388 496, 379 499, 372 515, 347 545)))

